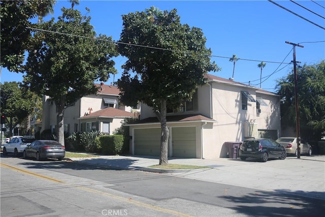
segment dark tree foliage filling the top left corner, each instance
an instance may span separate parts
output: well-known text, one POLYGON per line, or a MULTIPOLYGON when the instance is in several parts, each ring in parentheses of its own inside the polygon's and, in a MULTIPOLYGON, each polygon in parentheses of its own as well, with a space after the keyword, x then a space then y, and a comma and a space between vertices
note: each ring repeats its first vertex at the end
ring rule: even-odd
POLYGON ((0 1, 1 67, 20 72, 31 45, 31 19, 53 11, 55 1, 0 1))

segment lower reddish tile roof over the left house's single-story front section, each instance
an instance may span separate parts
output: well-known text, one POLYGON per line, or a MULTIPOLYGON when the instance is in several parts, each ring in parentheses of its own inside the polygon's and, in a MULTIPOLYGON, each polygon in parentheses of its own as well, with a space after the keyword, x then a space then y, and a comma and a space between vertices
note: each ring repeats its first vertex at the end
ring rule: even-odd
POLYGON ((92 118, 92 117, 109 117, 109 118, 117 118, 117 117, 134 117, 137 116, 137 114, 132 113, 132 112, 127 112, 127 111, 123 111, 120 109, 116 109, 116 108, 112 108, 112 107, 108 107, 105 109, 101 109, 99 111, 95 111, 92 112, 88 115, 84 115, 82 118, 92 118))

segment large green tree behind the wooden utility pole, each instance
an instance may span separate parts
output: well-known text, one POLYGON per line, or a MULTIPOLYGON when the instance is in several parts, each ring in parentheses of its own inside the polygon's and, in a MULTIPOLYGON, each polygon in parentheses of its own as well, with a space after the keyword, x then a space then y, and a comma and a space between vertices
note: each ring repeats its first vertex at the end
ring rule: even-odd
MULTIPOLYGON (((303 65, 297 69, 298 105, 301 137, 320 140, 325 136, 325 63, 303 65)), ((290 73, 277 81, 281 95, 282 128, 296 129, 295 78, 290 73)))

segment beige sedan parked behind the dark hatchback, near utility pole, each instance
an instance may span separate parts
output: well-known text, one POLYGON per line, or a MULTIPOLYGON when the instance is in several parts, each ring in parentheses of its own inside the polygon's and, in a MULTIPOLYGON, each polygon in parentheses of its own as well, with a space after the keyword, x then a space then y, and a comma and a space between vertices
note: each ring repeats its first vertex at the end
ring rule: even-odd
MULTIPOLYGON (((280 137, 276 141, 285 148, 287 154, 295 154, 296 156, 298 155, 298 144, 296 137, 280 137)), ((308 142, 305 142, 303 139, 300 141, 300 153, 307 154, 309 156, 312 154, 312 148, 310 144, 308 144, 308 142)))

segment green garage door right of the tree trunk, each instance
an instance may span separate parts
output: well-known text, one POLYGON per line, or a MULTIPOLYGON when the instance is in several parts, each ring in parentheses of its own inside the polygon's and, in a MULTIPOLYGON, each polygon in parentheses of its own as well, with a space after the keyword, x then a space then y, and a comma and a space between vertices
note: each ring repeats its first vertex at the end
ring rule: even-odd
POLYGON ((196 158, 196 127, 172 128, 173 157, 196 158))

